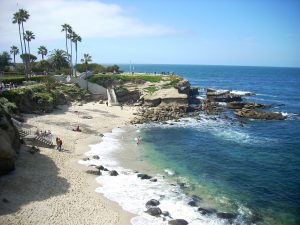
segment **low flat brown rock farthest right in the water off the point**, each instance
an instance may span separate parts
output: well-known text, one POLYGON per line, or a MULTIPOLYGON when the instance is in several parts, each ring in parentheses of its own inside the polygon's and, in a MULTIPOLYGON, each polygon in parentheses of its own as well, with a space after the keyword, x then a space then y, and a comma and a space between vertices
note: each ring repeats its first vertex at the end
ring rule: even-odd
POLYGON ((251 109, 240 109, 235 111, 235 115, 239 117, 245 117, 250 119, 261 119, 261 120, 284 120, 286 116, 282 113, 275 112, 262 112, 251 109))

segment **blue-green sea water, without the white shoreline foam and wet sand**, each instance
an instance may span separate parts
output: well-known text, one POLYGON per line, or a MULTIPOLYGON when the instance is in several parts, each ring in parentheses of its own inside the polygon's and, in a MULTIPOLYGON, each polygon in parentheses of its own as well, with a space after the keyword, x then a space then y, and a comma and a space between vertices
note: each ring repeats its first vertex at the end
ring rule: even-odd
POLYGON ((201 88, 255 92, 246 100, 286 113, 284 121, 244 119, 243 127, 230 111, 217 120, 200 115, 145 127, 141 151, 157 170, 175 171, 174 179, 187 182, 186 191, 198 193, 203 204, 244 220, 255 213, 259 224, 300 224, 299 68, 135 65, 135 71, 172 71, 201 88))

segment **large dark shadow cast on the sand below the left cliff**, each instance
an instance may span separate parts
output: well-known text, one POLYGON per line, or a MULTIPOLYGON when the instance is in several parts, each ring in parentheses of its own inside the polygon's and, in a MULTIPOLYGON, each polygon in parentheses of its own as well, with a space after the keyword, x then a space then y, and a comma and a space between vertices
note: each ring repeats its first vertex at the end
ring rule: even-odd
POLYGON ((39 153, 32 155, 22 149, 16 170, 0 177, 0 218, 30 202, 66 193, 70 184, 59 177, 58 172, 49 157, 39 153))

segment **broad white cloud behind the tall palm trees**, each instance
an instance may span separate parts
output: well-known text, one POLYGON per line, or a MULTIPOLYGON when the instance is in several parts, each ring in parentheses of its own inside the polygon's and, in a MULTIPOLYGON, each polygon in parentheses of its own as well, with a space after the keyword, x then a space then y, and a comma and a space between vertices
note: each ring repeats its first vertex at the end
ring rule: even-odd
POLYGON ((100 37, 153 37, 180 33, 161 24, 146 24, 119 5, 96 0, 0 0, 0 44, 18 41, 18 27, 12 15, 26 9, 30 18, 26 30, 40 41, 63 39, 61 25, 70 24, 83 39, 100 37), (18 6, 17 6, 18 2, 18 6))

